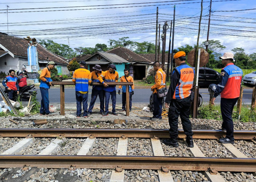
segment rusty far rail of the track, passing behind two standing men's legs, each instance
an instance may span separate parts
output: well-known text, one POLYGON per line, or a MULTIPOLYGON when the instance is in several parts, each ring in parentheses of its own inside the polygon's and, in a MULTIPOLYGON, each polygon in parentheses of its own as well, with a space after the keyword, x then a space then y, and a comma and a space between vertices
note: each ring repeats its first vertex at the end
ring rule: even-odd
MULTIPOLYGON (((91 129, 91 128, 0 128, 0 137, 102 137, 102 138, 169 138, 167 129, 91 129)), ((225 137, 222 130, 192 130, 194 139, 219 139, 225 137)), ((183 130, 178 130, 178 138, 185 138, 183 130)), ((234 131, 234 138, 251 140, 256 131, 234 131)))

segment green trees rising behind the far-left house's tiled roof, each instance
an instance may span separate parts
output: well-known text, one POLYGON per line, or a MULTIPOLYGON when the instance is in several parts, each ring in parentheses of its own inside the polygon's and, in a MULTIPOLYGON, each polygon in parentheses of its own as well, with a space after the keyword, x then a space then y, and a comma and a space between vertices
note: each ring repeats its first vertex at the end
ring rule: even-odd
POLYGON ((39 44, 45 47, 48 51, 66 59, 74 58, 76 56, 76 52, 66 44, 58 44, 53 40, 39 40, 39 44))

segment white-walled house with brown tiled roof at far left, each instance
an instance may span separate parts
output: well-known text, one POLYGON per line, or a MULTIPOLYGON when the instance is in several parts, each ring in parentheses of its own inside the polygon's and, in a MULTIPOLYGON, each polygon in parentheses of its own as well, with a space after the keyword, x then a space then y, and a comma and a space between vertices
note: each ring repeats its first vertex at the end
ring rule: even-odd
MULTIPOLYGON (((21 70, 22 65, 28 65, 27 41, 23 38, 8 36, 0 33, 0 72, 8 73, 10 69, 21 70)), ((38 63, 41 69, 45 68, 49 61, 54 61, 59 74, 68 75, 67 59, 53 54, 40 44, 37 45, 38 63)), ((38 76, 37 73, 29 73, 30 77, 38 76), (34 75, 34 76, 33 76, 34 75)))

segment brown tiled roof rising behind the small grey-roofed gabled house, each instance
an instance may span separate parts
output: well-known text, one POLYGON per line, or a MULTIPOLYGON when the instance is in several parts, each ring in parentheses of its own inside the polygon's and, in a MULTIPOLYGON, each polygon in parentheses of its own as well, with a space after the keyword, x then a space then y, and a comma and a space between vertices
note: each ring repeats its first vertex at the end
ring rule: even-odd
POLYGON ((136 54, 135 52, 132 52, 131 50, 124 48, 124 47, 117 47, 117 48, 111 49, 106 52, 116 54, 116 55, 120 56, 121 58, 127 60, 128 62, 151 63, 150 60, 143 58, 139 54, 136 54))

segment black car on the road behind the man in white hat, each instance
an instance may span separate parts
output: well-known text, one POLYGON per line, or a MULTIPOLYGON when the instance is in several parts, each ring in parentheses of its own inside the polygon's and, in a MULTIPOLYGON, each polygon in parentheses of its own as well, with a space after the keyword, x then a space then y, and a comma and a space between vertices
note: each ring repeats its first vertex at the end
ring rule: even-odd
MULTIPOLYGON (((193 67, 195 69, 195 67, 193 67)), ((218 84, 221 79, 221 74, 211 68, 199 68, 198 85, 208 87, 210 84, 218 84)))

